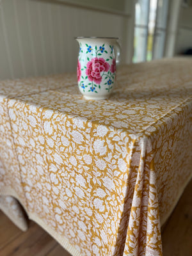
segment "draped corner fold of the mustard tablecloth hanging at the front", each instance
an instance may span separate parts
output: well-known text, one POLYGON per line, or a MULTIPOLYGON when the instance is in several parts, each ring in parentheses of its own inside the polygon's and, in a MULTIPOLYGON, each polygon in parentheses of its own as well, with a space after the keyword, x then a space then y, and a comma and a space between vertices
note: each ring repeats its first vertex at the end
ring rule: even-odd
MULTIPOLYGON (((135 172, 135 183, 132 184, 134 191, 124 255, 161 255, 161 230, 152 145, 150 138, 147 137, 139 138, 136 144, 134 152, 140 152, 140 159, 138 158, 138 163, 134 163, 138 170, 135 172), (156 234, 147 234, 147 230, 156 230, 156 234)), ((132 157, 134 159, 134 154, 132 157)), ((131 170, 134 170, 134 166, 131 170)))

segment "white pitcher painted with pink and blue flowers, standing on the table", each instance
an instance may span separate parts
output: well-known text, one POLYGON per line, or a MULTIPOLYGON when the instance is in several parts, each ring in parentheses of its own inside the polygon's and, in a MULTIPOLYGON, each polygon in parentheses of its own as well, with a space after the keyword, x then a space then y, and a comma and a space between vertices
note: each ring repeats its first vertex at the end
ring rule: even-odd
POLYGON ((108 99, 116 81, 118 38, 77 37, 79 57, 77 81, 86 99, 108 99))

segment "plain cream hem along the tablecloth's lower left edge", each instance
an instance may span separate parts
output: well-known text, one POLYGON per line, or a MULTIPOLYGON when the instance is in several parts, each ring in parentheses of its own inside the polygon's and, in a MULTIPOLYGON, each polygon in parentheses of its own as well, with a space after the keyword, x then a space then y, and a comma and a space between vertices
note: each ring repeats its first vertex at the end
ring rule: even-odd
MULTIPOLYGON (((40 225, 40 227, 44 228, 44 230, 47 233, 49 233, 58 243, 60 243, 61 246, 63 248, 65 248, 65 250, 67 250, 70 254, 72 254, 73 256, 82 256, 82 254, 80 252, 78 252, 77 249, 74 248, 74 246, 72 246, 65 237, 62 237, 61 235, 57 234, 56 231, 47 227, 47 224, 44 223, 44 221, 42 221, 40 218, 38 218, 38 216, 36 216, 36 214, 34 214, 33 212, 28 212, 26 207, 24 206, 24 204, 22 204, 22 200, 20 200, 19 195, 17 195, 17 193, 12 188, 6 188, 6 187, 0 188, 0 196, 1 195, 13 196, 17 200, 19 200, 19 203, 22 205, 22 207, 28 214, 28 217, 30 220, 35 221, 38 225, 40 225)), ((6 212, 4 212, 4 213, 6 214, 6 212)), ((15 222, 13 221, 13 223, 15 223, 15 222)), ((18 227, 18 225, 17 225, 17 227, 18 227)), ((22 231, 26 231, 26 230, 22 230, 22 231)))

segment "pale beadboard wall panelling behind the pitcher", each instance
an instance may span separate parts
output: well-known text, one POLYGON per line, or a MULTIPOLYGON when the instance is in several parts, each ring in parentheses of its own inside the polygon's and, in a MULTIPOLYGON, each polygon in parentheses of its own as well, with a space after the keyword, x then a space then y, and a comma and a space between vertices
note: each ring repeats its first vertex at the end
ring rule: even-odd
POLYGON ((117 36, 125 48, 129 19, 65 4, 0 0, 0 79, 76 70, 76 36, 117 36))

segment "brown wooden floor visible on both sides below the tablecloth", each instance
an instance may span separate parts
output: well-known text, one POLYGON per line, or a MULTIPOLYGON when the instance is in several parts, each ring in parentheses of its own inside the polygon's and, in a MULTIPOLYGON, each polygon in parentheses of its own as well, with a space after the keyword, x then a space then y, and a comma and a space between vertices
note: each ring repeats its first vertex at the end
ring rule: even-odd
MULTIPOLYGON (((192 255, 192 180, 162 234, 164 256, 192 255)), ((30 221, 22 232, 0 211, 1 256, 70 256, 41 227, 30 221)))

